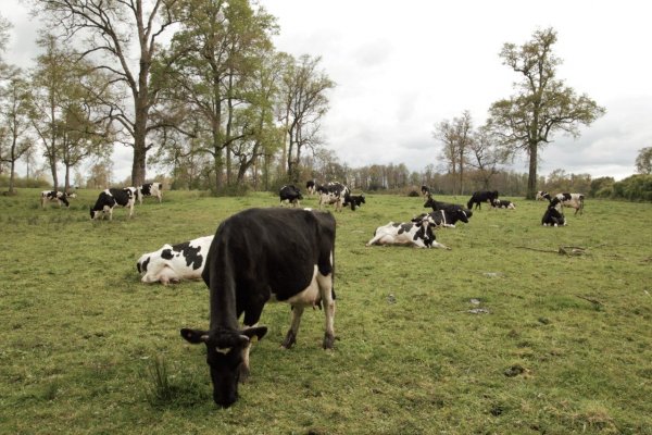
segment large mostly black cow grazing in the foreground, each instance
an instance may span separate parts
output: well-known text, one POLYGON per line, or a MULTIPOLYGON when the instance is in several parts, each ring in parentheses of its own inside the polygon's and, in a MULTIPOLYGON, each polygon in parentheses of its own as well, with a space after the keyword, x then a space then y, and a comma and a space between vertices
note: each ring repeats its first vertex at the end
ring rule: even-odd
POLYGON ((209 250, 202 278, 210 288, 209 331, 184 328, 191 344, 206 345, 213 400, 238 399, 238 380, 249 373, 249 349, 267 332, 255 326, 268 301, 292 307, 284 348, 297 340, 305 307, 324 307, 323 347, 335 344, 335 217, 301 209, 249 209, 223 221, 209 250), (244 314, 244 328, 238 324, 244 314))

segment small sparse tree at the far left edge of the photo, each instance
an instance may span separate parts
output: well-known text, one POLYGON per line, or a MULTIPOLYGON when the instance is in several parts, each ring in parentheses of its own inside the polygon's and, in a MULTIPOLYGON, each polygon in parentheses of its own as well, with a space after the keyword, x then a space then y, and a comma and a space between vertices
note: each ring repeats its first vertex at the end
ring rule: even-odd
POLYGON ((29 84, 20 69, 12 69, 0 87, 0 160, 9 164, 9 192, 14 192, 16 161, 32 147, 27 137, 32 98, 29 84))

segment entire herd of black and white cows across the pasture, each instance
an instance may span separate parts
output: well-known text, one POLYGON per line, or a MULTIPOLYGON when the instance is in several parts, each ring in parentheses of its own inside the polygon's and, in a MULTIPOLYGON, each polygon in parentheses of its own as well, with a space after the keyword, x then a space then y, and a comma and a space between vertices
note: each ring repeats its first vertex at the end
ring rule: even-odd
MULTIPOLYGON (((334 204, 341 212, 350 206, 356 210, 365 203, 364 195, 352 195, 341 183, 318 185, 309 182, 309 195, 318 195, 322 209, 334 204)), ((436 227, 454 227, 468 223, 472 209, 482 203, 492 208, 515 209, 511 201, 499 199, 498 191, 476 191, 466 207, 437 201, 430 190, 422 187, 426 198, 421 213, 409 222, 378 226, 366 244, 408 245, 419 248, 450 249, 438 243, 436 227)), ((90 209, 91 219, 108 214, 116 206, 128 207, 143 196, 161 201, 161 185, 138 188, 106 189, 90 209)), ((43 191, 41 203, 58 200, 68 206, 73 197, 57 191, 43 191)), ((210 290, 210 325, 208 330, 181 328, 180 335, 190 344, 206 346, 206 362, 213 384, 213 400, 221 407, 231 406, 238 398, 238 383, 249 375, 249 351, 262 338, 266 326, 259 326, 264 306, 285 301, 291 306, 290 328, 281 346, 296 344, 301 315, 305 308, 323 308, 326 318, 323 347, 335 344, 335 235, 336 221, 331 213, 301 209, 300 189, 286 185, 279 189, 280 203, 292 208, 253 208, 224 220, 215 235, 203 236, 178 245, 164 245, 156 251, 142 254, 136 264, 143 283, 175 283, 181 279, 203 279, 210 290), (239 319, 242 318, 242 325, 239 319)), ((554 197, 539 192, 537 199, 549 204, 543 225, 565 225, 563 207, 582 212, 584 196, 559 194, 554 197)))

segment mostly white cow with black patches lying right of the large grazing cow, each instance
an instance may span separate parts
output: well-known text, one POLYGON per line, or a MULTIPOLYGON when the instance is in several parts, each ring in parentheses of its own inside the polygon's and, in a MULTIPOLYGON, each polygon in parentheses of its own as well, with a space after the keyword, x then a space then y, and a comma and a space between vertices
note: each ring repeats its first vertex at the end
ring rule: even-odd
POLYGON ((435 220, 427 213, 422 213, 406 223, 390 222, 387 225, 377 227, 374 237, 367 241, 366 246, 405 245, 415 248, 450 249, 436 240, 432 231, 435 225, 435 220))

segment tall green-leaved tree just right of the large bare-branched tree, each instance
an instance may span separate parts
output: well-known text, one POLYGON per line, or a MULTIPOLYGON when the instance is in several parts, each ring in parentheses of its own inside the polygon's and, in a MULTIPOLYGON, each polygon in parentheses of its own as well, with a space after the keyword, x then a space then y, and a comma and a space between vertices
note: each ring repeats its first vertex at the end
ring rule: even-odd
POLYGON ((275 20, 249 0, 188 0, 174 10, 180 30, 165 57, 161 77, 171 83, 171 100, 183 101, 192 117, 184 130, 202 138, 214 161, 215 190, 231 182, 230 157, 236 141, 249 140, 252 128, 235 124, 240 110, 255 103, 247 91, 262 59, 273 49, 275 20))

